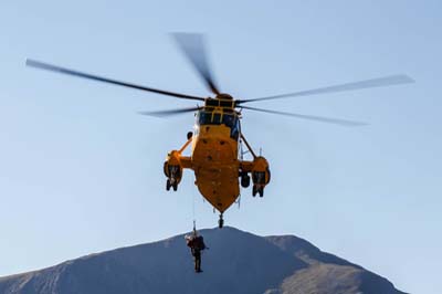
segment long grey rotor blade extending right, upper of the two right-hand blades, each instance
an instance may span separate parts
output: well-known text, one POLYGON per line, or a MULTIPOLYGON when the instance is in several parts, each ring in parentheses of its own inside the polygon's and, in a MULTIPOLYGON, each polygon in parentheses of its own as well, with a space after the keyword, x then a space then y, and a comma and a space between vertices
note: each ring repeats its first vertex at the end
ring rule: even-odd
POLYGON ((389 76, 383 76, 383 77, 378 77, 378 78, 365 80, 365 81, 327 86, 327 87, 319 87, 319 88, 314 88, 314 90, 308 90, 308 91, 301 91, 301 92, 294 92, 294 93, 262 97, 262 98, 242 99, 242 101, 238 101, 236 104, 242 104, 242 103, 246 103, 246 102, 255 102, 255 101, 270 101, 270 99, 280 99, 280 98, 286 98, 286 97, 337 93, 337 92, 355 91, 355 90, 370 88, 370 87, 392 86, 392 85, 409 84, 409 83, 414 83, 414 80, 408 75, 398 74, 398 75, 389 75, 389 76))

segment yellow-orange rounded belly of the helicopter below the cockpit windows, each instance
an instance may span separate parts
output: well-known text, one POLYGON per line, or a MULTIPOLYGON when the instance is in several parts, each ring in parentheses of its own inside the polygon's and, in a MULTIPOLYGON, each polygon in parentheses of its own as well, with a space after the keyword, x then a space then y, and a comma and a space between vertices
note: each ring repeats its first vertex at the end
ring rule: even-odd
POLYGON ((196 185, 201 195, 220 212, 240 195, 236 141, 230 138, 199 139, 192 154, 196 185))

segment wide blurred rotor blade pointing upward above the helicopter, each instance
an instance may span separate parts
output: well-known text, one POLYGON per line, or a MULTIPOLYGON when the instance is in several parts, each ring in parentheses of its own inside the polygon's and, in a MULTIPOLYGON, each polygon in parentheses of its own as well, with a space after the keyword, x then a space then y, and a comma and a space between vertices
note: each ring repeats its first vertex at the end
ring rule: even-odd
POLYGON ((220 94, 207 59, 204 36, 199 33, 172 33, 171 35, 210 91, 215 95, 220 94))

